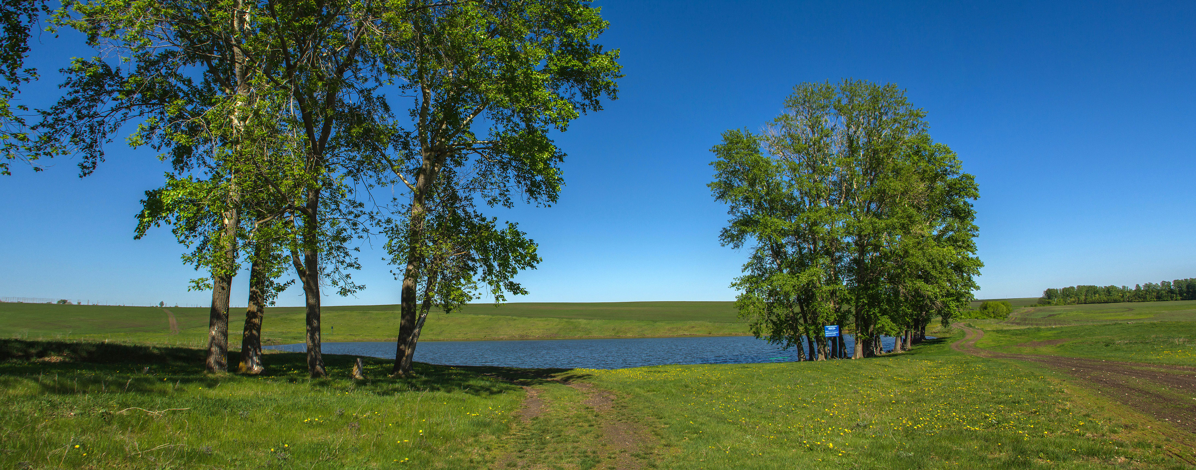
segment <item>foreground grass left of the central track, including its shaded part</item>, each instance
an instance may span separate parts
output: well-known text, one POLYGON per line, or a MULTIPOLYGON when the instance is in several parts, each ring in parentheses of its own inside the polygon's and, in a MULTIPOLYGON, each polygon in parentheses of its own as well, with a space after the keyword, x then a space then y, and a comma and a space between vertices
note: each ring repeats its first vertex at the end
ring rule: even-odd
POLYGON ((256 378, 206 376, 187 348, 5 340, 0 354, 5 469, 476 468, 523 397, 483 376, 501 368, 417 364, 403 380, 370 359, 355 382, 353 358, 325 355, 332 378, 311 380, 301 354, 269 354, 256 378))

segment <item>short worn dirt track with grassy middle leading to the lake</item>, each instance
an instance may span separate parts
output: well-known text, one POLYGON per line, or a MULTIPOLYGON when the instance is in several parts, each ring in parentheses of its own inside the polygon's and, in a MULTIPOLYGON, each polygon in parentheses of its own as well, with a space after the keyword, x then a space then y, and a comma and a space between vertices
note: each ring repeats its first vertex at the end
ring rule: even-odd
POLYGON ((614 392, 554 378, 527 392, 492 469, 642 469, 655 437, 621 413, 614 392))

